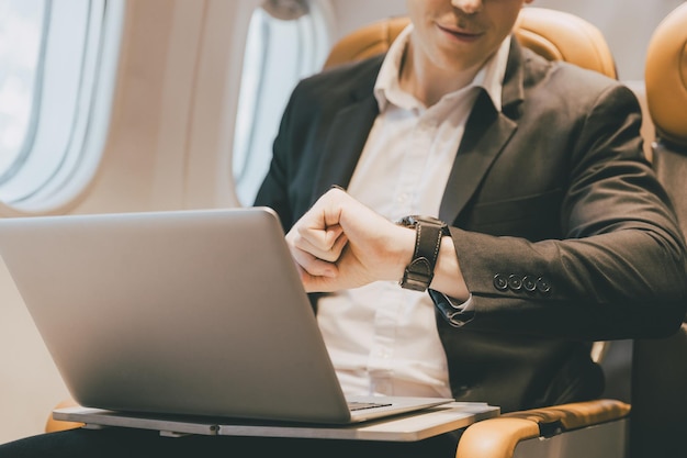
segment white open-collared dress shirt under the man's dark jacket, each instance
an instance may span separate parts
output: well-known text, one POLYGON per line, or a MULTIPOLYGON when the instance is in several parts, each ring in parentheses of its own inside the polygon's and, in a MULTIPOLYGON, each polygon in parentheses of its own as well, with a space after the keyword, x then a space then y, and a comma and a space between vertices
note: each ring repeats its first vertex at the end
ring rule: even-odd
MULTIPOLYGON (((427 108, 399 87, 412 31, 392 44, 378 76, 380 107, 348 192, 392 221, 437 216, 468 115, 484 88, 500 111, 510 38, 471 85, 427 108)), ((380 281, 323 297, 317 320, 346 394, 451 398, 446 354, 427 293, 380 281)))

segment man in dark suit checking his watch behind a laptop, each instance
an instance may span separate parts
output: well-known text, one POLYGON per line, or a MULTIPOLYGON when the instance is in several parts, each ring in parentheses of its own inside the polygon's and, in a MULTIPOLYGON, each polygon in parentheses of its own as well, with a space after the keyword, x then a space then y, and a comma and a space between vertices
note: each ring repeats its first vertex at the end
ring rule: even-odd
MULTIPOLYGON (((637 100, 522 49, 510 33, 530 1, 408 0, 413 26, 386 56, 292 96, 256 204, 289 232, 349 393, 449 395, 504 412, 593 399, 602 373, 590 342, 667 335, 685 314, 685 246, 642 157, 637 100)), ((47 436, 0 454, 455 449, 450 436, 47 436)))

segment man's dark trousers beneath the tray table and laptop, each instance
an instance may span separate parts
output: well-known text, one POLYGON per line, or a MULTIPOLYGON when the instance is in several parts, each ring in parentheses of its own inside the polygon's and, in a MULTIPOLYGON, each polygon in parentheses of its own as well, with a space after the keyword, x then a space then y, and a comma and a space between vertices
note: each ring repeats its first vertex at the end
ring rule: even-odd
POLYGON ((0 458, 394 457, 453 458, 460 432, 412 443, 269 437, 162 437, 129 428, 70 429, 0 445, 0 458))

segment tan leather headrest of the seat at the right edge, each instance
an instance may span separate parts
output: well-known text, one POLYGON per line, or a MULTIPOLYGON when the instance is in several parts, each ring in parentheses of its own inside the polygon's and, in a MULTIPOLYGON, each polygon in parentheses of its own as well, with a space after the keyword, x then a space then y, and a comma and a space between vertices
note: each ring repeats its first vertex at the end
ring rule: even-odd
POLYGON ((687 147, 687 3, 656 26, 646 52, 644 82, 656 133, 687 147))

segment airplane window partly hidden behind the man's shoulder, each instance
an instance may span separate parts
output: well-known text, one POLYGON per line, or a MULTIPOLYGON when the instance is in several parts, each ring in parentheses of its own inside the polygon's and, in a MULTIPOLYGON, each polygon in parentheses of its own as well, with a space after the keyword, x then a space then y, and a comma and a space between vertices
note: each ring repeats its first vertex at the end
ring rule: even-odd
POLYGON ((267 174, 282 111, 296 82, 318 71, 331 43, 323 0, 267 0, 252 14, 244 56, 233 171, 250 205, 267 174))

